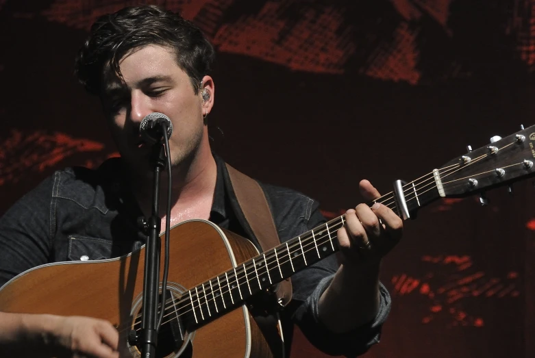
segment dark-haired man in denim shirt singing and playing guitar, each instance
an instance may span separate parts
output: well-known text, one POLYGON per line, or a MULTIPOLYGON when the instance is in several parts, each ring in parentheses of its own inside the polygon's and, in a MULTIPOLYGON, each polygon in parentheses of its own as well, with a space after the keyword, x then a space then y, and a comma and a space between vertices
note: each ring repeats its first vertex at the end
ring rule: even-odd
MULTIPOLYGON (((165 220, 175 225, 201 218, 247 236, 225 166, 208 141, 213 60, 201 31, 172 12, 139 6, 99 18, 76 70, 101 99, 121 159, 98 170, 55 172, 1 218, 0 285, 40 264, 118 257, 140 247, 144 236, 135 220, 150 214, 152 171, 151 148, 140 139, 139 125, 152 112, 166 114, 179 129, 169 140, 173 206, 162 227, 165 220), (80 237, 85 246, 73 240, 80 237)), ((282 242, 325 222, 312 199, 266 184, 262 189, 282 242)), ((366 200, 379 197, 368 181, 360 190, 366 200)), ((380 261, 399 241, 401 227, 401 219, 379 203, 349 209, 337 232, 338 255, 292 277, 293 302, 283 316, 327 353, 358 355, 378 342, 390 304, 378 280, 380 261)), ((120 344, 103 320, 0 312, 0 353, 118 357, 120 344)))

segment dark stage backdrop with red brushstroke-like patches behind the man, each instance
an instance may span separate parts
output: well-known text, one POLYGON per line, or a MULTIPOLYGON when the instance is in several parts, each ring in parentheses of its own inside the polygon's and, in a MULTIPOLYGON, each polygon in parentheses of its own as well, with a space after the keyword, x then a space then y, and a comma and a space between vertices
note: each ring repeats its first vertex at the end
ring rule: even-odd
MULTIPOLYGON (((116 154, 73 58, 97 16, 143 2, 0 0, 0 213, 56 168, 116 154)), ((533 0, 145 2, 216 46, 216 151, 328 217, 361 201, 360 179, 389 192, 535 122, 533 0)), ((488 198, 406 222, 382 269, 392 313, 366 357, 535 357, 535 189, 488 198)), ((324 356, 296 340, 294 357, 324 356)))

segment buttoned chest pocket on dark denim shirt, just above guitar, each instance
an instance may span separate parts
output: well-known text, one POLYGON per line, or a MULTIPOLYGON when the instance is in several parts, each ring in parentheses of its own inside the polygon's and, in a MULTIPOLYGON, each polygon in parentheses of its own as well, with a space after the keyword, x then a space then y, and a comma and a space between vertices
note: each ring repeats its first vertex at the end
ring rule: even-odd
POLYGON ((72 261, 109 259, 112 256, 112 242, 88 236, 69 236, 68 256, 72 261))

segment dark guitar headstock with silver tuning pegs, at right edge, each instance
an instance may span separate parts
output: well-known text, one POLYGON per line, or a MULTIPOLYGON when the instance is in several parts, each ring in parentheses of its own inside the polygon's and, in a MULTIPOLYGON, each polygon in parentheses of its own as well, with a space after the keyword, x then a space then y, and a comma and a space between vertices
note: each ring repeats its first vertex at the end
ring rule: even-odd
POLYGON ((535 175, 535 126, 447 162, 438 170, 440 196, 462 197, 535 175))

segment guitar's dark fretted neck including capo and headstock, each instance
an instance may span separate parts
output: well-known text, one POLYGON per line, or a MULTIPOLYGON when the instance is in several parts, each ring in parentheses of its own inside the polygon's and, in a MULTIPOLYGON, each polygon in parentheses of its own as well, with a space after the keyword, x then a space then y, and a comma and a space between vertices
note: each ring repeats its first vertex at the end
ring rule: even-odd
MULTIPOLYGON (((506 138, 493 140, 447 162, 409 183, 398 183, 379 202, 400 216, 443 197, 464 197, 535 175, 535 126, 506 138)), ((369 203, 369 206, 373 205, 369 203)), ((482 201, 484 203, 484 201, 482 201)), ((242 305, 247 298, 291 277, 338 251, 336 231, 345 225, 345 215, 284 242, 187 292, 187 304, 196 323, 242 305)))

